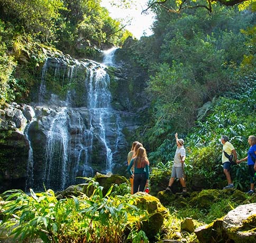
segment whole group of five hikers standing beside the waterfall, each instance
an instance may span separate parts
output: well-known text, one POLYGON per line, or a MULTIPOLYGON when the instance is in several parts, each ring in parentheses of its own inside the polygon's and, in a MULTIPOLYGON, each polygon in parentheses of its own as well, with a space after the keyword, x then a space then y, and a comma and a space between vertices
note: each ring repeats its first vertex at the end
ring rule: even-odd
MULTIPOLYGON (((184 147, 184 140, 178 138, 178 134, 175 134, 176 139, 176 152, 173 158, 173 166, 171 171, 171 178, 169 184, 166 188, 166 191, 171 191, 171 186, 175 181, 175 178, 178 178, 182 186, 182 193, 187 192, 186 181, 185 181, 185 158, 186 150, 184 147)), ((248 171, 250 176, 250 190, 248 194, 254 193, 254 180, 256 180, 256 137, 251 135, 248 137, 248 143, 250 148, 246 157, 242 160, 238 160, 237 154, 234 146, 228 142, 229 138, 225 135, 221 136, 221 143, 223 144, 222 149, 222 165, 223 172, 226 175, 228 185, 223 189, 234 188, 234 184, 231 180, 230 169, 232 164, 240 164, 243 161, 248 161, 248 171)), ((135 141, 132 144, 131 151, 127 155, 128 168, 127 171, 130 173, 131 181, 131 194, 134 194, 138 191, 143 192, 145 188, 149 186, 149 160, 147 153, 143 145, 135 141)))

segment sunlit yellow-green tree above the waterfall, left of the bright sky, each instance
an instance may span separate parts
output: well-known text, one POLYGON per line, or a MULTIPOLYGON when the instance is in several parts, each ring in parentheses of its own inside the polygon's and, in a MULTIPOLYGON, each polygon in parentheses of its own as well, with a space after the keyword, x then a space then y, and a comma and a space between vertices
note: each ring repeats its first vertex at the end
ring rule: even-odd
POLYGON ((95 57, 103 44, 121 44, 127 31, 122 23, 109 17, 99 0, 63 1, 57 48, 75 57, 95 57))

